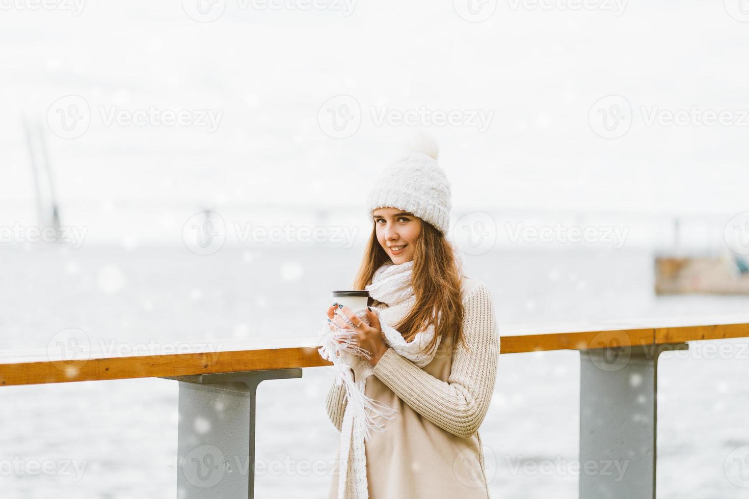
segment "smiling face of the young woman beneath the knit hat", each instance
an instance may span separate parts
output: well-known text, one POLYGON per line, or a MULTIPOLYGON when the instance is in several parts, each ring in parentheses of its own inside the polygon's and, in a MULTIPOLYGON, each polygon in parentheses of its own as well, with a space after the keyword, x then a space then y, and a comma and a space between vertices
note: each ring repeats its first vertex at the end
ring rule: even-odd
POLYGON ((399 265, 413 260, 416 238, 421 233, 421 218, 397 208, 377 208, 372 218, 377 241, 392 263, 399 265))

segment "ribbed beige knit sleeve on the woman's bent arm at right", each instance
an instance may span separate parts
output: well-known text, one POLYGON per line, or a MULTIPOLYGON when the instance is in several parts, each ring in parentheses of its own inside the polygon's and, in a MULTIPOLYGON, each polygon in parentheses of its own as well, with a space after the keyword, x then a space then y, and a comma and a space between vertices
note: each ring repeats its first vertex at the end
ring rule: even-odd
POLYGON ((431 376, 389 348, 375 365, 375 376, 393 393, 440 428, 468 438, 488 411, 500 354, 494 304, 485 284, 476 284, 464 298, 462 332, 468 346, 455 344, 447 382, 431 376))

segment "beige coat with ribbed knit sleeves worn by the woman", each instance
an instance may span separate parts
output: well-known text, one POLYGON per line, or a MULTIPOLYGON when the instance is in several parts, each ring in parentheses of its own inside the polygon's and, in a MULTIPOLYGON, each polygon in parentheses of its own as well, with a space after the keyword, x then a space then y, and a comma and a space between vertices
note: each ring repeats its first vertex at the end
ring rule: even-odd
MULTIPOLYGON (((497 378, 500 337, 488 287, 464 278, 461 344, 440 344, 431 363, 419 368, 388 349, 366 383, 366 395, 396 408, 385 431, 365 442, 371 499, 485 499, 489 489, 479 426, 497 378)), ((345 388, 333 383, 327 411, 340 431, 345 388)), ((336 461, 340 453, 336 453, 336 461)), ((338 471, 329 498, 338 497, 338 471)))

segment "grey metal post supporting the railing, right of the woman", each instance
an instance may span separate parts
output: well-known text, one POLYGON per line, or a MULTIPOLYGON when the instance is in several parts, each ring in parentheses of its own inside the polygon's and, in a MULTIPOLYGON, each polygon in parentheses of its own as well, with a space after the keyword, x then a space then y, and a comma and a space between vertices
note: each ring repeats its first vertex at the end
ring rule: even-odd
POLYGON ((580 499, 655 499, 658 357, 676 349, 580 352, 580 499))

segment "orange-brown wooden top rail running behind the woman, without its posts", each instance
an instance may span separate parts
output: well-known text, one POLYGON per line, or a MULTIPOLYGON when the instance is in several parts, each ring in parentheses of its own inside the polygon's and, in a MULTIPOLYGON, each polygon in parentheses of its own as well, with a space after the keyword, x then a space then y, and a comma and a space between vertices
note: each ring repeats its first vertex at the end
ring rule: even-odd
MULTIPOLYGON (((595 324, 500 325, 502 354, 648 346, 749 337, 749 314, 604 321, 595 324)), ((0 386, 187 376, 331 365, 309 337, 215 340, 213 349, 117 357, 90 351, 74 360, 47 349, 0 350, 0 386), (207 350, 207 351, 206 351, 207 350)))

